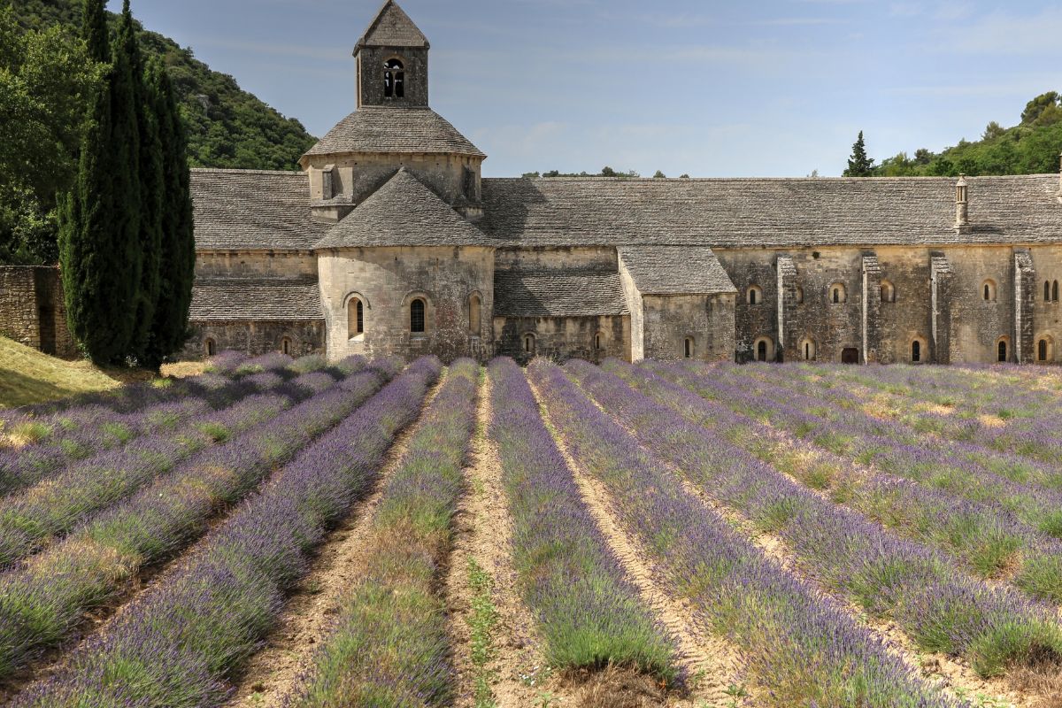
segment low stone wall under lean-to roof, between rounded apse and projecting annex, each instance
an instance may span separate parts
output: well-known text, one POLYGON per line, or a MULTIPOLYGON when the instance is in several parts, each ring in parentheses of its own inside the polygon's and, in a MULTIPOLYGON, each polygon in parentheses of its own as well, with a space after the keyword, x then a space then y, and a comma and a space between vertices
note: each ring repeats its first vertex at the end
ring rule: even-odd
POLYGON ((553 361, 585 359, 600 363, 612 357, 631 361, 631 318, 628 315, 589 317, 495 317, 496 353, 526 364, 534 357, 553 361), (534 336, 528 350, 526 336, 534 336))

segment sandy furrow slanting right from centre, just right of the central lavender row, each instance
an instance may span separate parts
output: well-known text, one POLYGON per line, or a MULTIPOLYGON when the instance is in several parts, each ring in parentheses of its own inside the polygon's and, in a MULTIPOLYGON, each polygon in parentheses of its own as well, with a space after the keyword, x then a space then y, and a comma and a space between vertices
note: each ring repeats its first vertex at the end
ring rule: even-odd
POLYGON ((737 649, 704 627, 688 601, 673 597, 666 573, 640 542, 622 529, 604 484, 587 474, 571 456, 563 436, 549 422, 549 413, 538 390, 534 385, 531 388, 598 529, 638 589, 643 602, 675 640, 679 664, 690 677, 689 695, 671 696, 668 705, 724 705, 731 698, 726 689, 741 684, 741 660, 737 649))

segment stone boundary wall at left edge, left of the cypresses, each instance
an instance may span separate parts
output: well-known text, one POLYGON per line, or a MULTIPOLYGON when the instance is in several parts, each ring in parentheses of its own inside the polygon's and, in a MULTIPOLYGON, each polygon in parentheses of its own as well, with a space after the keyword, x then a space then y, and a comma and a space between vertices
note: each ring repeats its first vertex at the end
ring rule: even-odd
POLYGON ((0 267, 0 334, 45 353, 76 356, 57 267, 0 267))

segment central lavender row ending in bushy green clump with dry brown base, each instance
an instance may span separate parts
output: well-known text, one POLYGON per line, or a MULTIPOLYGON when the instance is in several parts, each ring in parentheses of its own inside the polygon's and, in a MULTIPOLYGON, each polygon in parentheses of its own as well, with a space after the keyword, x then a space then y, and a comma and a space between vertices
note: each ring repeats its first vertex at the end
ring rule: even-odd
POLYGON ((524 372, 509 359, 495 360, 489 372, 490 431, 513 520, 513 560, 546 660, 562 670, 612 663, 673 680, 673 642, 583 503, 524 372))

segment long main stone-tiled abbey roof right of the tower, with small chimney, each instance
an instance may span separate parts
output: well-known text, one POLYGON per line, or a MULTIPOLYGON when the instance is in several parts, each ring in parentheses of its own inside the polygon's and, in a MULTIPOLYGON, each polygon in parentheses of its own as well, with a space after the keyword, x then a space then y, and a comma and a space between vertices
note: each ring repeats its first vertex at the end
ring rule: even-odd
POLYGON ((499 246, 791 248, 1059 243, 1057 174, 955 178, 484 179, 478 226, 499 246))

